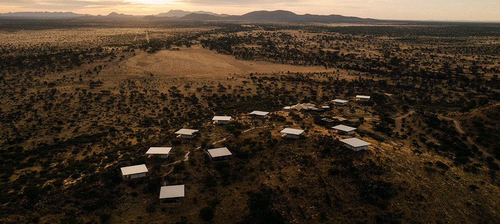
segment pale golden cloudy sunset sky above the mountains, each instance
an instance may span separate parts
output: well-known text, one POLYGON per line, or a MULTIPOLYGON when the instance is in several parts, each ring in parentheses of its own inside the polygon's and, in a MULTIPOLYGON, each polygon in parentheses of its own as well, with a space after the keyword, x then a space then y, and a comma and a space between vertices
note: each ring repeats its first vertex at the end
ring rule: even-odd
POLYGON ((240 15, 255 10, 401 20, 500 21, 500 0, 0 0, 0 12, 149 15, 170 9, 240 15))

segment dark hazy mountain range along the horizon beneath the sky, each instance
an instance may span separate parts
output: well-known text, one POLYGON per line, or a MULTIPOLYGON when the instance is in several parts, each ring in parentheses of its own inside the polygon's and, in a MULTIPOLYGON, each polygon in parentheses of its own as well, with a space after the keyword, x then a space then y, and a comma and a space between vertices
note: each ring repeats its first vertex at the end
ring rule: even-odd
POLYGON ((252 11, 243 15, 228 15, 216 14, 209 11, 183 11, 170 10, 168 12, 158 13, 154 15, 127 15, 122 13, 111 12, 107 15, 90 15, 78 14, 73 12, 8 12, 0 13, 1 17, 22 17, 22 18, 46 18, 46 19, 123 19, 123 18, 138 18, 149 21, 161 20, 256 20, 256 21, 360 21, 360 20, 375 20, 369 18, 359 18, 343 15, 315 15, 315 14, 295 14, 291 11, 275 10, 275 11, 252 11))

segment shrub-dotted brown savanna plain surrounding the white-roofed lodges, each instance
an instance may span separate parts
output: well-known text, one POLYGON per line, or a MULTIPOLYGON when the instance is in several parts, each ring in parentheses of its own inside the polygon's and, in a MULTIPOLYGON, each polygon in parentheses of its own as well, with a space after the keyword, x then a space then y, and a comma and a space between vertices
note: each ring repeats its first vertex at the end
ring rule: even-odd
POLYGON ((500 219, 498 24, 1 21, 0 223, 500 219), (159 204, 170 185, 178 207, 159 204))

